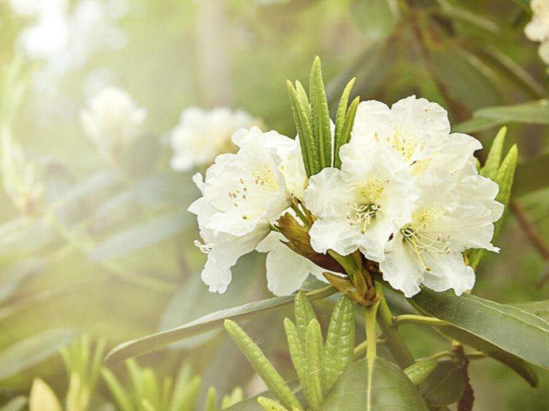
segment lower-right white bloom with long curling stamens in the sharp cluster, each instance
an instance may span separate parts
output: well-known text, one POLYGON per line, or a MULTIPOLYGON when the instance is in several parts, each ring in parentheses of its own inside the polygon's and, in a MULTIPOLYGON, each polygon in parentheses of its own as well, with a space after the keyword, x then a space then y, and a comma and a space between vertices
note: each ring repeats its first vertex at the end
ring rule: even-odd
POLYGON ((460 295, 475 283, 463 251, 498 251, 491 245, 493 222, 503 212, 502 204, 494 201, 498 185, 479 175, 469 177, 474 176, 465 177, 467 191, 458 192, 450 180, 422 190, 412 221, 390 241, 379 268, 384 279, 406 297, 419 292, 419 284, 436 291, 454 288, 460 295))

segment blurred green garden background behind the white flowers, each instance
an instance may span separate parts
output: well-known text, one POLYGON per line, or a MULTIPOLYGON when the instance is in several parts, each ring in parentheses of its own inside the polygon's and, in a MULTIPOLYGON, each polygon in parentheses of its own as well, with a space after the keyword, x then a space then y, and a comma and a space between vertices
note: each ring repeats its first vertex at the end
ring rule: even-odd
MULTIPOLYGON (((480 108, 544 99, 549 85, 537 44, 524 36, 530 14, 521 1, 95 0, 110 7, 110 17, 71 46, 74 56, 61 51, 49 59, 33 58, 21 46, 21 34, 36 19, 17 12, 18 1, 0 1, 0 64, 7 70, 21 61, 27 92, 12 134, 45 194, 36 212, 22 215, 0 192, 0 404, 27 395, 34 377, 63 397, 67 381, 57 351, 75 334, 104 337, 113 347, 268 297, 260 254, 240 260, 222 297, 200 282, 205 258, 193 245, 198 229, 185 211, 198 190, 192 173, 170 169, 165 140, 185 108, 242 108, 293 136, 285 80, 306 80, 315 55, 329 98, 356 76, 361 99, 391 104, 415 94, 441 103, 453 125, 480 108), (113 36, 113 44, 106 41, 113 36), (61 56, 69 62, 59 68, 61 56), (124 88, 148 110, 148 134, 119 168, 102 160, 79 120, 87 99, 106 85, 124 88), (51 329, 65 332, 45 338, 51 329)), ((85 1, 69 1, 67 10, 85 1)), ((77 36, 78 27, 72 30, 77 36)), ((519 181, 536 173, 539 182, 515 195, 523 221, 507 215, 502 251, 482 262, 476 295, 506 303, 547 298, 549 255, 542 243, 549 242, 549 191, 542 187, 549 175, 529 165, 534 158, 546 164, 547 129, 509 124, 507 145, 516 142, 526 164, 519 181)), ((473 134, 489 147, 495 132, 473 134)), ((318 308, 327 316, 329 306, 318 308)), ((284 314, 246 329, 291 375, 284 314)), ((418 327, 404 333, 417 356, 443 344, 418 327)), ((220 333, 140 362, 169 375, 183 360, 203 377, 199 402, 209 386, 219 395, 249 387, 250 366, 220 333)), ((124 375, 123 366, 113 371, 124 375)), ((475 409, 547 410, 549 373, 539 370, 539 377, 533 389, 493 360, 474 362, 475 409)), ((97 407, 112 401, 101 382, 95 396, 97 407)))

